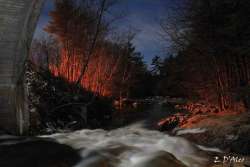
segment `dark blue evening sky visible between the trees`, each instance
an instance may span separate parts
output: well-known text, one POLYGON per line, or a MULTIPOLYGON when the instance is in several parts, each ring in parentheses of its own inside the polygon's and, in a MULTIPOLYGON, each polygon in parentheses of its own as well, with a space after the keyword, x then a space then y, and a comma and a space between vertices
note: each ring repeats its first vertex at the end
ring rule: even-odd
MULTIPOLYGON (((135 29, 138 34, 134 39, 137 51, 140 51, 149 64, 155 55, 163 55, 163 43, 160 40, 159 20, 164 17, 170 0, 119 0, 113 6, 114 12, 123 12, 125 17, 114 24, 119 29, 135 29)), ((53 9, 53 1, 47 0, 41 13, 35 37, 44 36, 43 28, 48 23, 49 11, 53 9)))

